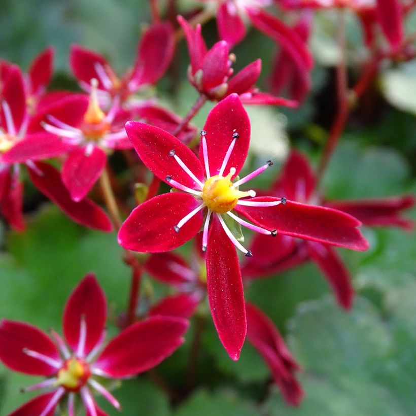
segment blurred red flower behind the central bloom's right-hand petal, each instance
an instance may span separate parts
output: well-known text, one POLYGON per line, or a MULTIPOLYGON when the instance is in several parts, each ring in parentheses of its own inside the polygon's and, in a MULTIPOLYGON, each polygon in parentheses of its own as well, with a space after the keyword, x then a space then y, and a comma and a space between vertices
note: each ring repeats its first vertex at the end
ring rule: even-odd
MULTIPOLYGON (((269 191, 274 195, 304 203, 320 203, 325 207, 353 215, 364 225, 398 226, 412 228, 411 221, 402 218, 401 210, 414 205, 414 197, 391 197, 384 199, 322 201, 316 190, 316 179, 307 159, 293 151, 283 169, 281 178, 269 191)), ((345 309, 351 307, 354 289, 348 270, 334 250, 333 244, 324 241, 302 241, 288 235, 278 235, 271 242, 256 236, 252 250, 259 252, 253 261, 247 262, 243 274, 259 277, 281 272, 307 260, 314 261, 331 285, 338 303, 345 309)))

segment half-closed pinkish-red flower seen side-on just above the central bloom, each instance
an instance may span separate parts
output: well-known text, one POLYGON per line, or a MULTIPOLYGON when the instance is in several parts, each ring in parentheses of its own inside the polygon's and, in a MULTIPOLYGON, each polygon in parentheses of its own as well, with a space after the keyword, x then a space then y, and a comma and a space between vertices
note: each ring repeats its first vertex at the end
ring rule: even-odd
POLYGON ((227 42, 217 42, 207 50, 201 36, 201 26, 198 24, 195 30, 192 29, 182 16, 178 16, 178 21, 185 32, 191 60, 188 80, 201 94, 211 100, 219 101, 236 93, 246 104, 296 107, 297 102, 259 92, 254 86, 261 72, 260 59, 242 68, 230 79, 233 74, 231 65, 235 56, 229 54, 227 42))

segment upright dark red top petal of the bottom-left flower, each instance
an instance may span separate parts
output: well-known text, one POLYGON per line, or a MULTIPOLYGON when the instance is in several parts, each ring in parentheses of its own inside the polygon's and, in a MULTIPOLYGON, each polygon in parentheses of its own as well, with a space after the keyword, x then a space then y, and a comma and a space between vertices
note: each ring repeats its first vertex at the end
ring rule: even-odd
POLYGON ((86 356, 100 340, 106 318, 106 297, 95 276, 87 274, 71 293, 63 313, 63 334, 72 350, 77 351, 82 319, 87 327, 83 354, 86 356))

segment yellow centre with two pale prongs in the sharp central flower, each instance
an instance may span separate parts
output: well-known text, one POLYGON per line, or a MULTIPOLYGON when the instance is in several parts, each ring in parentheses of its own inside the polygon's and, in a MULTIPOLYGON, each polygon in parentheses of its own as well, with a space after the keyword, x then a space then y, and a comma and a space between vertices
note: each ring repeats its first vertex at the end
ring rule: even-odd
POLYGON ((235 168, 230 169, 226 176, 212 176, 207 179, 202 188, 202 199, 209 210, 219 214, 231 211, 239 198, 254 196, 253 191, 242 192, 231 182, 235 168))

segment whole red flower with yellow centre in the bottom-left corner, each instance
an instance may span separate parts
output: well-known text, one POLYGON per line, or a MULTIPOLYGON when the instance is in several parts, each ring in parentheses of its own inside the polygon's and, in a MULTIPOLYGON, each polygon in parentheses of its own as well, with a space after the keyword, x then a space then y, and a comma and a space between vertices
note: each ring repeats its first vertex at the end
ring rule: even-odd
POLYGON ((96 376, 125 378, 153 368, 182 344, 188 327, 187 321, 180 318, 149 318, 131 325, 103 346, 106 315, 106 298, 94 275, 89 274, 66 302, 64 339, 51 331, 52 340, 23 322, 1 322, 0 359, 14 371, 48 377, 26 391, 52 390, 25 403, 13 416, 52 416, 64 395, 68 396, 70 416, 75 414, 78 397, 88 415, 105 414, 96 405, 91 390, 120 408, 96 376))

